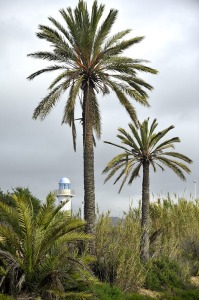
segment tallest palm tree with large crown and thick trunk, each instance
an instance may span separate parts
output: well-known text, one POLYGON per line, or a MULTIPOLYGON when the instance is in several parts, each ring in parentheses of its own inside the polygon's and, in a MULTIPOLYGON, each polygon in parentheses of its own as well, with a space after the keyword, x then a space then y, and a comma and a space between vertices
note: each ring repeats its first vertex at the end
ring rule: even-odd
POLYGON ((39 51, 28 56, 53 62, 33 74, 28 79, 60 70, 60 74, 49 86, 49 93, 34 110, 33 119, 41 120, 60 100, 61 95, 69 90, 62 124, 72 128, 73 144, 76 149, 75 107, 80 99, 83 125, 84 158, 84 217, 86 231, 92 233, 95 221, 95 184, 94 184, 94 149, 93 132, 97 138, 101 135, 101 117, 97 94, 108 94, 112 90, 132 119, 137 123, 134 107, 129 99, 133 98, 142 105, 149 106, 146 90, 152 86, 138 77, 137 72, 157 71, 147 67, 146 61, 123 56, 124 50, 141 42, 144 37, 123 39, 130 30, 120 31, 112 36, 109 33, 116 20, 118 11, 111 9, 104 20, 105 6, 93 2, 89 13, 86 1, 79 0, 77 7, 61 9, 64 25, 52 17, 53 27, 39 25, 37 37, 46 40, 51 51, 39 51))

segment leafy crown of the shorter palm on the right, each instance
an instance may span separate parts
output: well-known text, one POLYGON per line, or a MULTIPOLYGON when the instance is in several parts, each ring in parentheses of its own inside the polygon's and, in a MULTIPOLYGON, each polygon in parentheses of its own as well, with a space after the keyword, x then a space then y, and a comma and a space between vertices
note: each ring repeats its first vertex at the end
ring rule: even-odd
POLYGON ((168 151, 168 149, 174 149, 175 143, 180 142, 178 137, 161 141, 174 126, 169 126, 155 133, 157 125, 157 120, 154 119, 151 126, 149 126, 148 118, 142 124, 139 123, 138 129, 132 123, 129 123, 130 134, 123 128, 119 128, 117 137, 125 146, 105 141, 107 144, 124 150, 124 152, 114 157, 104 169, 103 173, 109 173, 105 182, 120 169, 121 173, 114 181, 115 184, 123 177, 119 189, 120 192, 127 178, 129 178, 128 184, 131 184, 139 176, 140 169, 144 163, 151 165, 154 172, 156 172, 157 166, 162 171, 166 166, 175 172, 179 178, 186 180, 184 172, 190 173, 190 169, 181 161, 191 163, 192 160, 176 151, 168 151))

